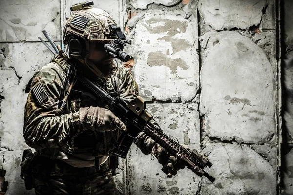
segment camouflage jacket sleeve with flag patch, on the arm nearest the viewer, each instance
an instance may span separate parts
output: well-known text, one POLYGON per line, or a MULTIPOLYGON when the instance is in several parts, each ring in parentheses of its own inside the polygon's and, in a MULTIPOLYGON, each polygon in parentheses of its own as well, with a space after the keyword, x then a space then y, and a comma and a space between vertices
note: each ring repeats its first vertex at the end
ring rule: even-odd
POLYGON ((24 110, 23 137, 33 148, 60 148, 67 145, 79 125, 79 114, 55 116, 65 73, 54 63, 33 77, 24 110))

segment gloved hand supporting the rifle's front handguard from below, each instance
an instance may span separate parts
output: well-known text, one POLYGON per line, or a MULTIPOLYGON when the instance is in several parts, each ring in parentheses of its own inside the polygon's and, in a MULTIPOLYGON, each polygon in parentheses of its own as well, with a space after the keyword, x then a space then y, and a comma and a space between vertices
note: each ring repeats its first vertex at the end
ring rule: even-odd
MULTIPOLYGON (((180 144, 184 148, 188 148, 186 145, 180 144)), ((165 150, 162 146, 156 143, 152 148, 152 154, 158 159, 159 163, 163 165, 163 167, 167 166, 168 174, 167 177, 171 178, 172 176, 177 174, 179 169, 184 169, 185 165, 183 161, 179 160, 175 156, 171 156, 167 150, 165 150)))

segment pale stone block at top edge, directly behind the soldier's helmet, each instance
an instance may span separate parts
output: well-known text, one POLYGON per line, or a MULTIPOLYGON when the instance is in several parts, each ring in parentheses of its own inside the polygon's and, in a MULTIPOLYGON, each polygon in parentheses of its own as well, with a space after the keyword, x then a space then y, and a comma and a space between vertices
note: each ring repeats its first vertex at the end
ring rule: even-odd
MULTIPOLYGON (((76 3, 81 3, 85 1, 80 1, 80 0, 64 0, 63 7, 65 11, 65 23, 66 20, 70 16, 70 7, 76 3)), ((112 18, 116 21, 117 25, 119 25, 119 0, 95 0, 94 1, 94 7, 100 8, 108 12, 112 18)), ((62 32, 63 32, 63 27, 62 27, 62 32)))

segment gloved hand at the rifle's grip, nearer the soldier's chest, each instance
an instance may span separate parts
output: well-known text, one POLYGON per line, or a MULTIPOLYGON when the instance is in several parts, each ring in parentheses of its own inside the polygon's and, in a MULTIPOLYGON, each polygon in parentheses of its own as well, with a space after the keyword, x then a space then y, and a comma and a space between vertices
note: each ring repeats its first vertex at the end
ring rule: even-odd
POLYGON ((79 118, 84 130, 105 132, 114 131, 118 128, 126 132, 125 124, 109 109, 93 106, 80 108, 79 118))

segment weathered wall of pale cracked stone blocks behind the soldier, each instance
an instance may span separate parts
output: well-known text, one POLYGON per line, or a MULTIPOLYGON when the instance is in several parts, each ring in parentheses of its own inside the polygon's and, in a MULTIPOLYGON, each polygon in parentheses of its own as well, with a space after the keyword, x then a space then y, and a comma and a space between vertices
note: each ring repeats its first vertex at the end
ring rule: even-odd
MULTIPOLYGON (((285 1, 284 18, 290 23, 293 3, 285 1)), ((60 42, 69 7, 77 2, 80 0, 1 1, 2 194, 34 194, 25 191, 19 177, 22 150, 27 148, 22 137, 24 88, 34 72, 52 58, 38 36, 43 37, 45 29, 60 42)), ((281 189, 283 195, 293 194, 292 150, 282 153, 287 163, 282 164, 281 182, 278 173, 282 137, 279 24, 275 23, 279 8, 275 2, 94 1, 95 7, 108 11, 132 40, 126 51, 133 59, 125 65, 133 72, 147 109, 167 134, 209 156, 213 166, 208 172, 216 178, 211 183, 188 169, 167 178, 156 160, 132 146, 127 159, 120 160, 115 176, 122 192, 277 195, 281 189)), ((292 25, 287 25, 287 45, 292 43, 292 32, 292 25)), ((287 118, 292 115, 287 112, 287 118)), ((291 124, 289 120, 284 123, 291 124)), ((292 144, 291 134, 292 129, 286 134, 288 144, 292 144)))

